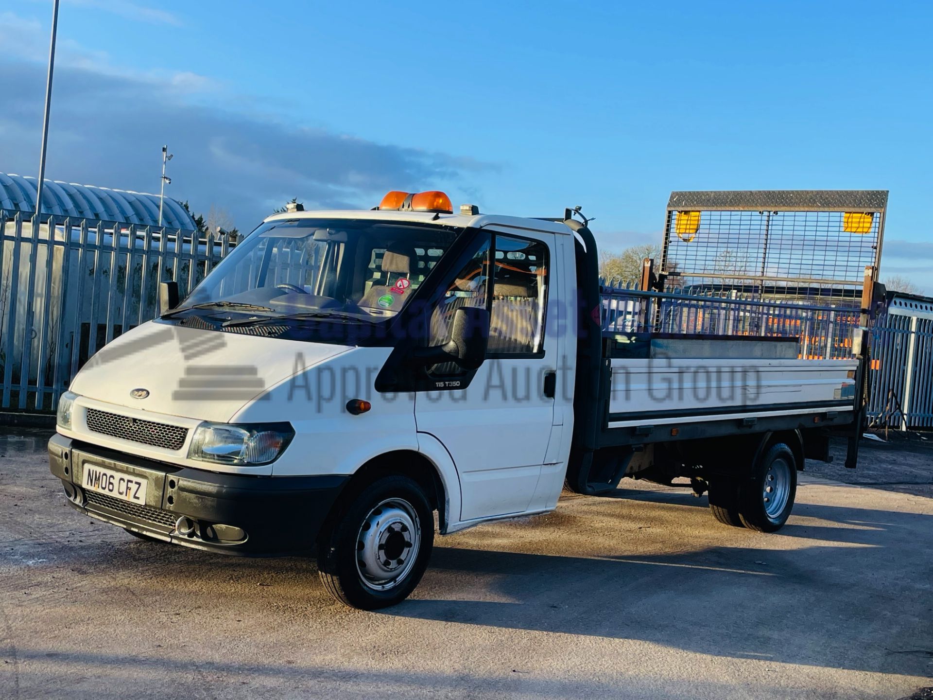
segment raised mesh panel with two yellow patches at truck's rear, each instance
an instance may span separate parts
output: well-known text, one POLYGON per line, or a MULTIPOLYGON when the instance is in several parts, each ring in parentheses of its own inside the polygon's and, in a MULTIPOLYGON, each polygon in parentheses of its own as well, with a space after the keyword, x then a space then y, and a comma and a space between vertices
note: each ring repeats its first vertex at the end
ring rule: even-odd
POLYGON ((661 270, 687 294, 857 303, 887 190, 672 192, 661 270))

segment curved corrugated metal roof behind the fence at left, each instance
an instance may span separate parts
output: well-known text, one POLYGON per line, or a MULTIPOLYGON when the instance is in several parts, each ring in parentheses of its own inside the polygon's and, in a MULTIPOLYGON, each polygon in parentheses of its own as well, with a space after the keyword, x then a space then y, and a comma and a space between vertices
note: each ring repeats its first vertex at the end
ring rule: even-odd
MULTIPOLYGON (((0 209, 35 212, 35 186, 35 177, 0 173, 0 209)), ((42 197, 44 214, 159 225, 158 194, 46 180, 42 197)), ((162 225, 171 229, 197 229, 191 215, 170 197, 165 198, 162 206, 162 225)))

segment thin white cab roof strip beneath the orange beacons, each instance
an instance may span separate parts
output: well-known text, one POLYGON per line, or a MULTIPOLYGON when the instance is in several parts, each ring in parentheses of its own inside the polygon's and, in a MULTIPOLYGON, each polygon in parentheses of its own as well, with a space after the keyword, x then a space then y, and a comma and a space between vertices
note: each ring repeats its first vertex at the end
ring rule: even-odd
POLYGON ((458 228, 481 229, 485 226, 498 228, 546 231, 549 233, 563 233, 570 235, 570 230, 562 221, 548 221, 540 218, 505 217, 498 214, 436 214, 434 212, 412 212, 378 209, 344 209, 325 211, 299 211, 282 212, 266 217, 265 221, 278 221, 296 218, 363 218, 373 221, 395 221, 398 223, 436 224, 438 226, 455 226, 458 228))

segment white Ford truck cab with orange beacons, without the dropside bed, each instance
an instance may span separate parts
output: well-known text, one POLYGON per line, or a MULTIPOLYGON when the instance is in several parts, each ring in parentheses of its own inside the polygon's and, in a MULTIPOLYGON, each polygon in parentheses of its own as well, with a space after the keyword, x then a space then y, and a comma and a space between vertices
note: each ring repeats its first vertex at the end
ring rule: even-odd
POLYGON ((453 213, 438 192, 269 217, 77 374, 52 472, 134 535, 316 551, 345 602, 395 602, 424 571, 432 511, 449 533, 556 506, 574 245, 564 223, 453 213))

